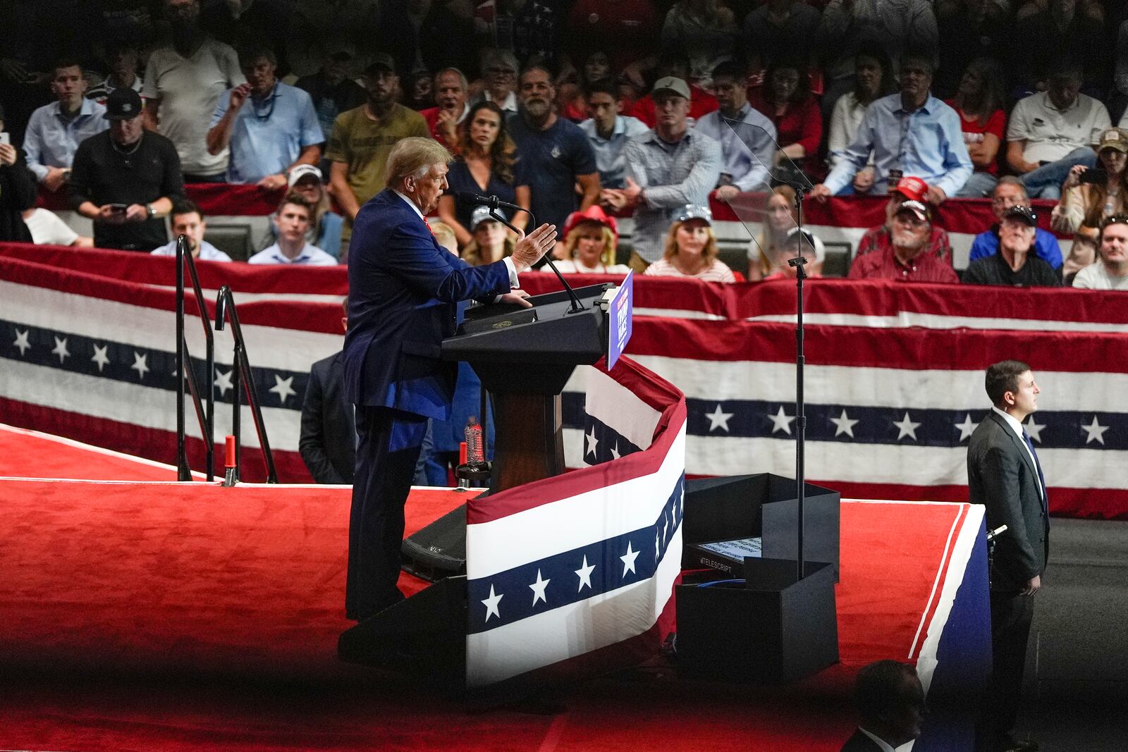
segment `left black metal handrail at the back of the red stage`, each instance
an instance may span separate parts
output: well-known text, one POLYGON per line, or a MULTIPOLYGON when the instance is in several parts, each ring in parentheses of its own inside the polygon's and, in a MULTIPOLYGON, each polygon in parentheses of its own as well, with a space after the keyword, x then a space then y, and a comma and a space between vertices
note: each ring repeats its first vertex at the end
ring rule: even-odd
MULTIPOLYGON (((176 238, 176 372, 188 382, 188 392, 192 395, 192 404, 196 408, 196 419, 200 422, 200 433, 204 437, 204 452, 208 465, 208 480, 211 481, 215 474, 215 389, 212 380, 215 378, 215 344, 211 331, 211 321, 208 319, 208 308, 204 306, 204 293, 200 287, 200 276, 196 274, 196 263, 188 253, 187 238, 183 235, 176 238), (200 400, 200 387, 196 383, 196 372, 192 368, 192 359, 188 353, 188 343, 184 338, 184 267, 188 267, 192 276, 192 290, 196 298, 196 308, 200 311, 200 321, 204 326, 204 361, 205 361, 205 383, 208 395, 204 399, 206 409, 200 400)), ((176 479, 192 480, 192 469, 188 467, 187 449, 184 444, 184 384, 176 390, 176 479)))

